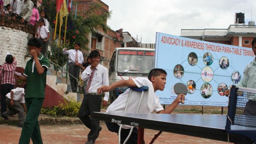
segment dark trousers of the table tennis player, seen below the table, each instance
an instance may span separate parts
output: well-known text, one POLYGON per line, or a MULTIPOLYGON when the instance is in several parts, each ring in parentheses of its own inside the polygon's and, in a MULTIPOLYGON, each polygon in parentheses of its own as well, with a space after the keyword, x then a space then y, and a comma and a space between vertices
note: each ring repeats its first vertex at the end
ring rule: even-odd
MULTIPOLYGON (((110 132, 116 132, 118 134, 118 130, 120 127, 118 124, 106 122, 106 125, 110 132)), ((124 140, 129 135, 130 130, 131 129, 124 129, 124 128, 121 129, 121 144, 124 143, 124 140)), ((127 144, 137 144, 137 140, 138 140, 138 129, 137 129, 137 127, 134 127, 132 130, 132 134, 126 143, 127 144)), ((144 141, 144 143, 145 143, 145 141, 144 141)))

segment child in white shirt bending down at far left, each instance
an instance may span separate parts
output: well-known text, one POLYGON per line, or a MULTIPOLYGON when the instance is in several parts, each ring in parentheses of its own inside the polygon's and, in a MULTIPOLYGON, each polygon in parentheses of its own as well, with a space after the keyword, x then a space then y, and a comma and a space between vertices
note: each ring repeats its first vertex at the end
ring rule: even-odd
POLYGON ((24 85, 24 88, 17 87, 16 89, 12 89, 11 92, 6 94, 6 104, 12 110, 5 111, 2 115, 4 119, 8 119, 7 116, 12 116, 18 113, 18 116, 19 116, 18 127, 23 126, 23 123, 25 122, 24 111, 27 113, 25 98, 24 98, 25 89, 26 89, 26 84, 24 85), (20 103, 22 104, 23 108, 21 107, 20 103))

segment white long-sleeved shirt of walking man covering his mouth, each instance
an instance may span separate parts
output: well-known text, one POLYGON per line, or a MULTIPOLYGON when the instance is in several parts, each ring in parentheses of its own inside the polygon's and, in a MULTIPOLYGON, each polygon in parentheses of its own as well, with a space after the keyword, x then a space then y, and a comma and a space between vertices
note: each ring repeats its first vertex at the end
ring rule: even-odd
MULTIPOLYGON (((83 81, 87 80, 87 85, 91 77, 92 70, 91 66, 85 68, 84 72, 81 75, 83 81)), ((94 70, 94 75, 92 78, 91 86, 88 90, 88 93, 97 93, 97 89, 101 86, 108 86, 108 69, 104 66, 98 64, 94 70)), ((105 96, 103 100, 108 101, 109 92, 104 92, 105 96)))

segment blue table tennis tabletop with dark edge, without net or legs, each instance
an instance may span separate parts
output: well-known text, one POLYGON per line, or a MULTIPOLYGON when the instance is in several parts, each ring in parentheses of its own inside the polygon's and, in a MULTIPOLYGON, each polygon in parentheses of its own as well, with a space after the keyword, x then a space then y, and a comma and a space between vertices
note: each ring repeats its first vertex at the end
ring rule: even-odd
MULTIPOLYGON (((212 140, 233 143, 252 143, 256 140, 256 128, 231 125, 226 130, 227 116, 224 115, 184 115, 184 114, 134 114, 134 113, 100 113, 93 117, 106 122, 138 126, 147 129, 172 132, 212 140), (247 133, 252 137, 243 135, 247 133), (254 135, 254 136, 253 136, 254 135)), ((168 139, 168 138, 166 138, 168 139)), ((140 138, 143 140, 143 138, 140 138)))

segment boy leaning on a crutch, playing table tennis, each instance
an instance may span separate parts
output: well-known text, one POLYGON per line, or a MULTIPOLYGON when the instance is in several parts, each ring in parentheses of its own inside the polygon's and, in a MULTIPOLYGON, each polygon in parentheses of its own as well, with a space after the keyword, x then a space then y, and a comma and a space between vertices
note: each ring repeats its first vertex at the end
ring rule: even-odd
MULTIPOLYGON (((172 102, 172 104, 164 109, 159 103, 159 97, 155 94, 157 90, 163 91, 164 86, 166 84, 166 71, 160 68, 152 69, 148 78, 137 77, 135 79, 130 80, 122 80, 117 81, 114 84, 109 86, 100 87, 97 92, 100 94, 101 92, 109 92, 112 89, 121 86, 129 86, 129 87, 142 87, 148 86, 148 91, 144 92, 144 96, 141 100, 140 109, 138 113, 152 113, 155 111, 158 114, 170 114, 176 108, 176 106, 181 102, 181 99, 185 100, 184 94, 179 94, 177 98, 172 102)), ((124 93, 120 94, 118 98, 108 106, 106 112, 114 112, 114 113, 123 113, 125 109, 126 102, 128 100, 128 95, 130 93, 130 89, 127 89, 124 93)), ((130 102, 127 107, 126 113, 136 113, 136 108, 139 105, 139 98, 141 96, 141 92, 132 91, 130 102)), ((119 125, 116 123, 106 122, 108 130, 111 132, 118 133, 119 125)), ((122 125, 121 132, 121 143, 124 143, 124 140, 127 138, 130 132, 131 126, 122 125)), ((137 143, 138 139, 138 129, 133 128, 132 135, 127 141, 127 143, 137 143)))

